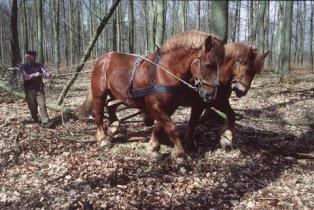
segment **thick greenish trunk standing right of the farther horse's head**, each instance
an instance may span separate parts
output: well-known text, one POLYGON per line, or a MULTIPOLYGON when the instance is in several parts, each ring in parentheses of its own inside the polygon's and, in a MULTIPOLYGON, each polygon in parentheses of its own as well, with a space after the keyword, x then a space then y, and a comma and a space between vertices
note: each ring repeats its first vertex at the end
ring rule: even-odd
POLYGON ((290 74, 290 57, 291 57, 291 34, 292 34, 292 15, 293 15, 293 1, 286 2, 286 14, 284 19, 283 28, 283 43, 284 50, 282 52, 282 70, 281 70, 281 82, 285 82, 290 74))

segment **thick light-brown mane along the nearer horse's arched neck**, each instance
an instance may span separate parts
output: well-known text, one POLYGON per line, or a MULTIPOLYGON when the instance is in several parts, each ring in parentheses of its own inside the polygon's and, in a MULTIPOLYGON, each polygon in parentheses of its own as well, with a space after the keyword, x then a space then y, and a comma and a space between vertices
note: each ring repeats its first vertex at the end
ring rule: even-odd
POLYGON ((160 52, 164 54, 177 49, 201 49, 204 46, 205 39, 209 35, 210 34, 202 31, 186 31, 178 33, 164 42, 160 47, 160 52))

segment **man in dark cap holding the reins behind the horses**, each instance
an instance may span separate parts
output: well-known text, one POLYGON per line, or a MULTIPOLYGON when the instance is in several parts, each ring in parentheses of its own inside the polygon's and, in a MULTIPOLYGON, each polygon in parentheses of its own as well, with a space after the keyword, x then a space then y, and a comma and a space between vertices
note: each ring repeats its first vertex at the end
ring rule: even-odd
POLYGON ((50 78, 51 75, 45 70, 44 66, 36 62, 36 51, 28 50, 26 52, 27 63, 20 67, 20 73, 23 79, 25 99, 34 122, 40 123, 42 127, 52 127, 47 113, 46 99, 44 92, 44 78, 50 78), (40 119, 38 118, 38 107, 40 119))

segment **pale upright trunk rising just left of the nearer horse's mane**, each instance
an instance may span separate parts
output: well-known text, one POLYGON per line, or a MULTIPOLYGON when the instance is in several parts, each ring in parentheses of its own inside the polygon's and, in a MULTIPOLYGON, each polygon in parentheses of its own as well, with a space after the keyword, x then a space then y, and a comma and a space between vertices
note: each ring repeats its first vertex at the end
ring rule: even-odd
POLYGON ((165 27, 164 27, 164 15, 165 13, 165 0, 159 0, 157 2, 157 22, 156 22, 156 45, 157 46, 161 46, 163 41, 164 41, 164 31, 165 31, 165 27))

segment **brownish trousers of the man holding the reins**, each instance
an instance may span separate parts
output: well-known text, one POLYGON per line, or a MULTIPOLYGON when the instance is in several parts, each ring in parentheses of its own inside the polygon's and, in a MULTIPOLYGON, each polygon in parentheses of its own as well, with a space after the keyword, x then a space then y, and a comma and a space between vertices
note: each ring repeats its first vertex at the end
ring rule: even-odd
POLYGON ((48 123, 49 117, 47 113, 45 93, 43 91, 38 91, 36 89, 28 89, 28 88, 25 88, 24 91, 25 91, 25 99, 26 99, 29 111, 31 112, 32 118, 35 121, 38 121, 38 106, 39 106, 41 122, 48 123))

